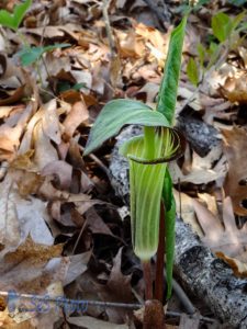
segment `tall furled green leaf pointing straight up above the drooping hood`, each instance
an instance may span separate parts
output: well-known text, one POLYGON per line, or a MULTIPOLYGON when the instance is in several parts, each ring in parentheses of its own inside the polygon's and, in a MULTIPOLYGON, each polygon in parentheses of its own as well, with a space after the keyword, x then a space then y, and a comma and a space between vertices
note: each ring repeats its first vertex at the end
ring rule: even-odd
POLYGON ((186 25, 187 16, 183 18, 181 23, 171 33, 164 78, 158 97, 157 111, 162 113, 170 124, 172 124, 175 116, 186 25))

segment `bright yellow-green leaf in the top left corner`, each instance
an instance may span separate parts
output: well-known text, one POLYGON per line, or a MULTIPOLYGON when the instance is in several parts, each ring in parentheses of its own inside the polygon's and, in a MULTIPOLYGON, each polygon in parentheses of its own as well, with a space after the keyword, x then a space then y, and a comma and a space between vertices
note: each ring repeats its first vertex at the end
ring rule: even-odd
POLYGON ((0 10, 0 24, 16 31, 31 4, 32 0, 26 0, 15 5, 13 13, 7 10, 0 10))

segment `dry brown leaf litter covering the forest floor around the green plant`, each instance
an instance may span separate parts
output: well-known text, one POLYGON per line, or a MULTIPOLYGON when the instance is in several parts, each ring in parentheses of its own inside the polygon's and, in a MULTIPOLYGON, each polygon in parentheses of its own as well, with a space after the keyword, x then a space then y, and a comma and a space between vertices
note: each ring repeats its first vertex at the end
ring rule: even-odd
MULTIPOLYGON (((1 8, 13 10, 16 2, 1 8)), ((168 16, 178 19, 178 3, 170 2, 168 16)), ((144 1, 111 1, 112 49, 100 1, 33 1, 19 32, 40 53, 35 63, 26 57, 25 67, 16 56, 23 45, 20 34, 1 29, 1 291, 133 303, 136 290, 143 297, 128 222, 120 215, 123 201, 105 175, 114 141, 97 158, 81 155, 89 128, 109 100, 156 102, 171 26, 168 32, 160 24, 157 29, 144 1), (45 52, 54 44, 67 46, 45 52)), ((211 3, 191 14, 177 115, 214 126, 220 143, 200 155, 188 138, 184 158, 171 172, 182 191, 176 198, 183 219, 236 275, 246 276, 246 47, 234 32, 231 45, 215 35, 223 41, 218 53, 206 48, 216 13, 211 3), (204 58, 197 50, 200 43, 204 58), (213 56, 203 71, 200 63, 206 66, 213 56), (188 63, 192 75, 187 75, 188 63)), ((5 306, 3 300, 4 326, 53 328, 64 321, 52 303, 46 315, 16 309, 11 318, 5 306)), ((71 311, 67 321, 83 328, 135 328, 125 309, 89 306, 86 314, 71 311)))

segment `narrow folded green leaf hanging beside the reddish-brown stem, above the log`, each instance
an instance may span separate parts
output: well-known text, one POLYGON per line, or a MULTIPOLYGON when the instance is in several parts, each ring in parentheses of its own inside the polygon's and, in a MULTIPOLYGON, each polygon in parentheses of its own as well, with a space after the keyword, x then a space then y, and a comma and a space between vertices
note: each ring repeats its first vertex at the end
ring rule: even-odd
POLYGON ((173 259, 175 259, 176 203, 175 203, 173 194, 171 194, 171 207, 169 212, 166 212, 165 220, 166 220, 167 299, 169 299, 172 290, 172 269, 173 269, 173 259))

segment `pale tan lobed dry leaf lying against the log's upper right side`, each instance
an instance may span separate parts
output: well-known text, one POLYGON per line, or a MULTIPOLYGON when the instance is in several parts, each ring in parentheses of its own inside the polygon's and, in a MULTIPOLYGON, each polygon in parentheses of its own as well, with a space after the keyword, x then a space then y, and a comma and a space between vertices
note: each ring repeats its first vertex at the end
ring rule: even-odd
POLYGON ((203 243, 233 268, 236 275, 247 275, 247 226, 237 228, 231 198, 227 196, 223 201, 223 223, 221 214, 215 214, 215 200, 205 194, 200 194, 200 198, 205 201, 206 205, 197 198, 189 200, 190 206, 193 207, 191 212, 194 211, 197 219, 194 216, 189 217, 192 219, 189 222, 186 212, 182 213, 182 219, 192 226, 203 243), (214 214, 209 209, 210 207, 213 208, 214 214))

